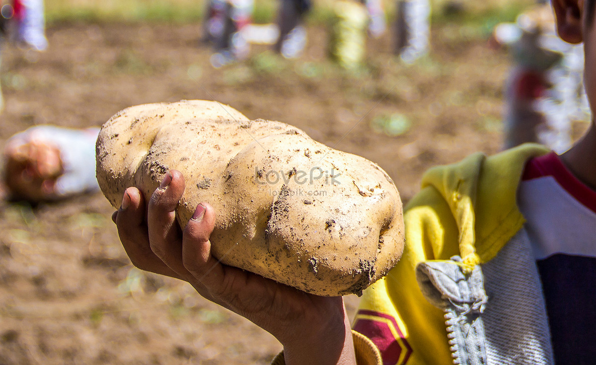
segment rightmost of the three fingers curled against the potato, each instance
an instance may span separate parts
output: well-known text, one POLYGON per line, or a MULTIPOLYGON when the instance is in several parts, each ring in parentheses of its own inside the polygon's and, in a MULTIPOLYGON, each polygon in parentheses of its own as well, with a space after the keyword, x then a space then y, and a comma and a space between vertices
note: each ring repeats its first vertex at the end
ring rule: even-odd
POLYGON ((226 267, 211 254, 209 236, 214 226, 213 207, 206 202, 197 205, 193 218, 188 221, 182 235, 182 261, 185 269, 193 275, 195 284, 204 286, 217 295, 227 285, 226 267))

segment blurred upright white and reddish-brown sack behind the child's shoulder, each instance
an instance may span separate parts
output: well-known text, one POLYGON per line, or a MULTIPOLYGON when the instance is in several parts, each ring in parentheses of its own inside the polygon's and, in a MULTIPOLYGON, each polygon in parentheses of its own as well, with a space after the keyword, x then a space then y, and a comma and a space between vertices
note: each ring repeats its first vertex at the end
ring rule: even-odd
POLYGON ((539 142, 566 151, 572 121, 589 118, 582 46, 557 37, 550 4, 520 14, 516 23, 499 24, 494 37, 513 58, 505 85, 504 148, 539 142))

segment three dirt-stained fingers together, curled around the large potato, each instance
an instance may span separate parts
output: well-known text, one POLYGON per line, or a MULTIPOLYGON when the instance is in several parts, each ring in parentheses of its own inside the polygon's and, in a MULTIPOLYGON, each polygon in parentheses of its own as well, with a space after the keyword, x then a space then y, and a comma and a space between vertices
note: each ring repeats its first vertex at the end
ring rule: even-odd
POLYGON ((183 238, 176 208, 184 188, 182 174, 169 171, 151 195, 146 216, 141 192, 126 189, 122 207, 112 216, 120 240, 139 269, 187 280, 201 292, 206 287, 210 292, 224 291, 226 268, 210 253, 215 211, 207 203, 198 205, 183 238))

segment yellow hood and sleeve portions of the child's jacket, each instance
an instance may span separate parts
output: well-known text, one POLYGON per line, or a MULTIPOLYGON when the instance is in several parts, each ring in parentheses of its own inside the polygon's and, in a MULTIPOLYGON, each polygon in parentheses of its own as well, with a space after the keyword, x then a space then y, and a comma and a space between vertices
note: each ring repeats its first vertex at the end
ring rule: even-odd
POLYGON ((358 330, 376 321, 377 330, 392 333, 395 341, 381 345, 384 364, 453 363, 445 312, 424 298, 415 268, 460 255, 469 270, 494 258, 524 223, 516 192, 525 163, 547 152, 523 145, 427 171, 420 193, 405 207, 402 258, 365 290, 353 322, 358 330))

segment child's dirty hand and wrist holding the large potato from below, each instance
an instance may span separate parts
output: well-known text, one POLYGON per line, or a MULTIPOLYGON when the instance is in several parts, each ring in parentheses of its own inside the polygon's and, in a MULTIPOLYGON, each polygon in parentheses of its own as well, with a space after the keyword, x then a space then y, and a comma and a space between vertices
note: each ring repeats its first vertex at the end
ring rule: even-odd
POLYGON ((216 260, 209 241, 216 222, 211 205, 197 205, 183 231, 176 222, 184 190, 176 170, 166 174, 147 207, 138 189, 126 189, 113 220, 132 263, 185 280, 272 333, 284 345, 286 364, 355 364, 342 297, 307 294, 216 260))

